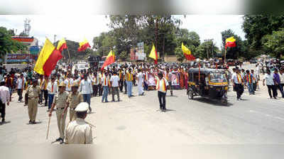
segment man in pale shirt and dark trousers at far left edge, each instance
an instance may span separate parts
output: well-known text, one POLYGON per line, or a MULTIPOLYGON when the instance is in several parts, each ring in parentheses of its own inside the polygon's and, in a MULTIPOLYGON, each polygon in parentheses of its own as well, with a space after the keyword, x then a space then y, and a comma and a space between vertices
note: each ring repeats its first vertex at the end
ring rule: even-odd
POLYGON ((5 115, 6 115, 6 103, 9 106, 10 101, 10 92, 9 88, 5 86, 5 82, 0 82, 0 113, 2 123, 5 122, 5 115))

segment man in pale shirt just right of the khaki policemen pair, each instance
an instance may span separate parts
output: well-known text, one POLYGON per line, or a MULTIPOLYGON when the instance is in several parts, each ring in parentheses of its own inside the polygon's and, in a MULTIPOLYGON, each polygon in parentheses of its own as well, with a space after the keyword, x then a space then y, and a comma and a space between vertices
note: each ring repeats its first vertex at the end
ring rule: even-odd
POLYGON ((80 82, 79 92, 83 95, 84 102, 89 104, 89 112, 92 112, 91 108, 91 94, 93 94, 92 82, 87 79, 87 75, 84 75, 84 79, 80 82))

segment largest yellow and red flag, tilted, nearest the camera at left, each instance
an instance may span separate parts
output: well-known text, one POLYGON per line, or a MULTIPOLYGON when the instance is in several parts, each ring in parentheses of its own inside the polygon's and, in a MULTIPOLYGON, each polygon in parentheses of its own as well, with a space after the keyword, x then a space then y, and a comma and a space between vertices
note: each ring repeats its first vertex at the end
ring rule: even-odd
POLYGON ((38 60, 33 70, 40 75, 49 76, 61 58, 60 51, 46 38, 45 45, 43 45, 43 49, 40 51, 40 55, 38 55, 38 60))

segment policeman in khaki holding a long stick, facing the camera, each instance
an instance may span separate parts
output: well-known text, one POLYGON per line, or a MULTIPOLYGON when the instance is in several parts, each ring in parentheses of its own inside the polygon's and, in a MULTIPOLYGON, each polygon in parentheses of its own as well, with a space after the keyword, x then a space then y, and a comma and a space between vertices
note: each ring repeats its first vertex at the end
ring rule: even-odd
POLYGON ((67 103, 68 93, 65 91, 66 85, 64 82, 61 82, 58 87, 59 87, 59 92, 58 94, 55 95, 53 99, 53 105, 51 106, 48 116, 52 115, 53 109, 56 106, 56 116, 58 119, 58 130, 60 134, 60 137, 56 139, 56 141, 60 141, 60 144, 62 144, 64 142, 66 112, 63 117, 62 113, 67 103))

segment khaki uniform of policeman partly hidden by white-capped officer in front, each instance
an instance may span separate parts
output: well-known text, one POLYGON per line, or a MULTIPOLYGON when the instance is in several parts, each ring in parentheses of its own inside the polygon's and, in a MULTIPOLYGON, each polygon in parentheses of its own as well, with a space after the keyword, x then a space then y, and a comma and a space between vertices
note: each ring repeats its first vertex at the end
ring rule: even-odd
POLYGON ((70 92, 67 98, 67 103, 69 103, 70 109, 70 121, 74 121, 76 119, 75 109, 78 104, 83 102, 83 96, 79 92, 76 92, 76 94, 73 94, 73 92, 70 92))

